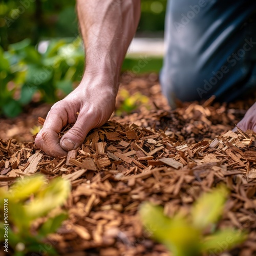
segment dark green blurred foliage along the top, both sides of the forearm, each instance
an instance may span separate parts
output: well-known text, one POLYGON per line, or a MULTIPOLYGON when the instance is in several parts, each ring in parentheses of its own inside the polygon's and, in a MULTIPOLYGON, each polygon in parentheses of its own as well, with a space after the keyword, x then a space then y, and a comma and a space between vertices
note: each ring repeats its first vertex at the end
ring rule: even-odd
MULTIPOLYGON (((138 32, 164 30, 167 0, 142 0, 138 32)), ((0 45, 30 38, 31 44, 53 37, 76 37, 78 34, 76 1, 3 0, 0 3, 0 45)))

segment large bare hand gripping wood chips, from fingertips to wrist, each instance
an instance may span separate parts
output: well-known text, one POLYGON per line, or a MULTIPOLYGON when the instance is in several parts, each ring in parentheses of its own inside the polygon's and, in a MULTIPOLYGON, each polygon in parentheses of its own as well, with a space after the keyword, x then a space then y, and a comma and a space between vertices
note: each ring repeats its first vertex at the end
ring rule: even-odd
POLYGON ((116 94, 110 79, 83 79, 73 92, 52 106, 35 144, 53 157, 67 155, 82 144, 91 129, 108 121, 115 108, 116 94), (73 123, 59 140, 62 127, 73 123))

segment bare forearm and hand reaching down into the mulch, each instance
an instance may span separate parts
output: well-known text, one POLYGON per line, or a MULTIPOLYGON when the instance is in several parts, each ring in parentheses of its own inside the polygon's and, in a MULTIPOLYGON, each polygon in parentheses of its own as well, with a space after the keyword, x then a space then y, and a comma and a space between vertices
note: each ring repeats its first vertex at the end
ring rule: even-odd
POLYGON ((52 106, 35 138, 35 144, 53 157, 80 146, 89 131, 113 113, 121 65, 139 23, 140 1, 77 0, 77 13, 86 69, 79 86, 52 106), (74 126, 59 140, 67 124, 74 126))

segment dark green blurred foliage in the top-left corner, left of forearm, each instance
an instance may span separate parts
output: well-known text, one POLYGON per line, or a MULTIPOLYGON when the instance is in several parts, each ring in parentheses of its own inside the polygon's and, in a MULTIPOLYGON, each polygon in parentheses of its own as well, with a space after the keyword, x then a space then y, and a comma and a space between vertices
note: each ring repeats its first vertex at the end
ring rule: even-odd
POLYGON ((4 0, 0 17, 0 43, 5 50, 25 38, 36 45, 42 39, 78 34, 75 0, 4 0))

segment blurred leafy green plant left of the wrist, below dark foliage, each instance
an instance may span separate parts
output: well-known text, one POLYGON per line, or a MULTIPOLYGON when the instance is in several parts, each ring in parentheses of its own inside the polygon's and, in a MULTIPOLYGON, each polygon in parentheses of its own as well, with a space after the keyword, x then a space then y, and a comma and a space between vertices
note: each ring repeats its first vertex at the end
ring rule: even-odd
POLYGON ((56 102, 73 90, 83 67, 79 37, 52 39, 45 53, 39 53, 29 39, 10 45, 5 52, 0 48, 0 114, 15 117, 38 92, 40 100, 56 102))

